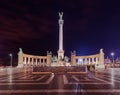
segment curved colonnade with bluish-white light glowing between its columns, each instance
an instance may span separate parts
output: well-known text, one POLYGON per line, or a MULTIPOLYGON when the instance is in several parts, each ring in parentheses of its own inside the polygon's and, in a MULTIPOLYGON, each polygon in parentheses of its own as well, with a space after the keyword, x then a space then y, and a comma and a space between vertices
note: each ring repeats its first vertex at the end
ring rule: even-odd
POLYGON ((104 52, 100 49, 99 54, 88 56, 76 56, 76 52, 71 53, 71 63, 73 65, 95 65, 96 68, 104 68, 104 52))

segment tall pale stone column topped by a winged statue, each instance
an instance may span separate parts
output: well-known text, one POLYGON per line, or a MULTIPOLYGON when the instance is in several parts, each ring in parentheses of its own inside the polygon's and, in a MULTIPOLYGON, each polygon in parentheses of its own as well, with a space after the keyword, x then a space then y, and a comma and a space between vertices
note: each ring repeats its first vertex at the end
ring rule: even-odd
POLYGON ((58 59, 63 59, 64 58, 64 50, 63 50, 63 23, 64 20, 62 19, 63 17, 63 12, 59 12, 59 50, 58 50, 58 59))

